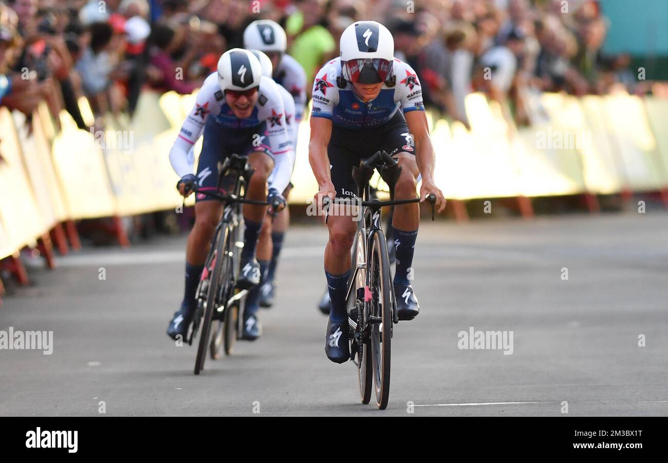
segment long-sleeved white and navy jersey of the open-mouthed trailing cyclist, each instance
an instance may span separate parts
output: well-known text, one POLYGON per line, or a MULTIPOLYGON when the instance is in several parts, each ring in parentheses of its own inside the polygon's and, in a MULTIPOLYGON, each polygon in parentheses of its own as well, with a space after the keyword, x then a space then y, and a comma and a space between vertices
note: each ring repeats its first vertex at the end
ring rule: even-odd
MULTIPOLYGON (((287 132, 285 106, 279 86, 265 76, 260 81, 259 95, 253 112, 243 119, 236 117, 226 103, 218 84, 218 75, 212 73, 206 78, 197 94, 195 105, 186 117, 170 151, 169 157, 174 171, 180 177, 193 173, 193 156, 189 155, 189 152, 192 152, 192 145, 202 135, 205 125, 208 130, 215 129, 220 133, 228 133, 231 139, 238 131, 245 132, 245 129, 252 129, 262 124, 266 125, 263 130, 264 135, 257 133, 253 140, 248 140, 248 143, 253 143, 254 147, 259 148, 257 151, 264 151, 274 158, 275 165, 269 187, 283 191, 290 182, 295 155, 287 132)), ((206 135, 204 142, 206 145, 206 135)), ((224 137, 220 143, 225 143, 224 137)), ((223 148, 220 147, 221 153, 223 148)))

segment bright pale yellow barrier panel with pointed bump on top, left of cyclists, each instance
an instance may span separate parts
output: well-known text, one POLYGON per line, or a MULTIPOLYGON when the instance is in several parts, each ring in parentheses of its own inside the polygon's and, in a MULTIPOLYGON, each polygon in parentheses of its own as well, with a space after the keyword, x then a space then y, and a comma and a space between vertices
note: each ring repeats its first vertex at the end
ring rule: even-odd
POLYGON ((62 132, 53 140, 53 164, 58 175, 67 214, 73 219, 115 215, 102 151, 94 136, 61 111, 62 132))

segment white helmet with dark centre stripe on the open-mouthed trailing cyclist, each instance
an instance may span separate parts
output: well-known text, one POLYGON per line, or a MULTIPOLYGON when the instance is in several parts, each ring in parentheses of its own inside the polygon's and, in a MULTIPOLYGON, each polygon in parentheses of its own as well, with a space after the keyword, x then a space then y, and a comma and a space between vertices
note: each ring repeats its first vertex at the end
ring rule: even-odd
POLYGON ((223 92, 258 87, 261 77, 260 61, 248 50, 232 48, 218 59, 218 83, 223 92))

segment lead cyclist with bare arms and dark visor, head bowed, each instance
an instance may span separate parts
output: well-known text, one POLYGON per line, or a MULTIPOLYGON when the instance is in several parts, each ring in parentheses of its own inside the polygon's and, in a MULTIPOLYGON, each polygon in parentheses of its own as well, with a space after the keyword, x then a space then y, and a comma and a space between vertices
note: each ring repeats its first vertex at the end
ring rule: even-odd
MULTIPOLYGON (((316 74, 313 84, 309 161, 323 197, 356 196, 352 168, 359 159, 384 149, 402 166, 395 199, 411 199, 422 174, 420 201, 436 195, 442 212, 446 199, 434 182, 434 148, 422 102, 420 79, 394 57, 394 40, 385 26, 357 21, 341 34, 341 56, 316 74)), ((412 320, 420 306, 411 286, 413 251, 418 236, 417 203, 395 206, 395 275, 393 289, 399 320, 412 320)), ((357 231, 352 215, 331 215, 327 222, 325 276, 331 311, 325 353, 332 362, 350 358, 345 296, 350 278, 350 249, 357 231)))

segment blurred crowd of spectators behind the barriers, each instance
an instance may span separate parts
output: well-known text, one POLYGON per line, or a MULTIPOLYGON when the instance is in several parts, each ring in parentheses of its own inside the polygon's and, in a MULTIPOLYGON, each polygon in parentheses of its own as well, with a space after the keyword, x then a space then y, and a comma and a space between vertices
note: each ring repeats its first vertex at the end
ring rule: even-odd
POLYGON ((45 100, 88 129, 82 95, 97 125, 132 114, 144 89, 190 93, 256 19, 283 25, 309 81, 345 27, 382 22, 426 105, 467 126, 472 91, 519 124, 540 91, 641 91, 629 57, 601 51, 609 25, 597 0, 0 0, 0 104, 30 114, 45 100))

